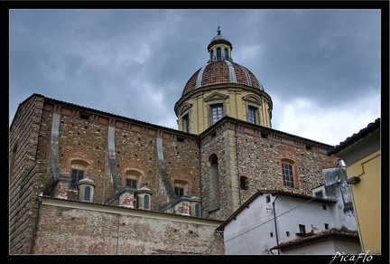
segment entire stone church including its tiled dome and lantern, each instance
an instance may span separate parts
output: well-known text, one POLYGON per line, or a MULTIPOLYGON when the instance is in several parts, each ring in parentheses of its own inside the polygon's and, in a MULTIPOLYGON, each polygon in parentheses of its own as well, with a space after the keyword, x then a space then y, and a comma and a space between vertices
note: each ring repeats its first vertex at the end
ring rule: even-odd
POLYGON ((225 253, 216 229, 257 190, 312 195, 333 146, 272 128, 272 99, 218 34, 178 129, 32 94, 9 137, 10 254, 225 253))

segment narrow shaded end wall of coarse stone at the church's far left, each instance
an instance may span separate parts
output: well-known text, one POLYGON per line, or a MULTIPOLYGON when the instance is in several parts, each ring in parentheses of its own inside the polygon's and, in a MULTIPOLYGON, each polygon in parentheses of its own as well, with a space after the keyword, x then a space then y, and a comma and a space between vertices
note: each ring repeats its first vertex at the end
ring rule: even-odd
POLYGON ((40 159, 42 98, 26 99, 10 127, 9 251, 29 254, 38 195, 42 193, 47 160, 40 159))

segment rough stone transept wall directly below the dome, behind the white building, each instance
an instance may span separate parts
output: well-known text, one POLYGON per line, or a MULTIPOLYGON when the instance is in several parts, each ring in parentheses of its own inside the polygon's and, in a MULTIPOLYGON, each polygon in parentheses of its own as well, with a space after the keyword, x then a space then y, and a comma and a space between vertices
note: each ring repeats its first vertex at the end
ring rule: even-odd
MULTIPOLYGON (((211 134, 210 134, 211 135, 211 134)), ((260 128, 246 127, 234 123, 222 124, 216 129, 215 136, 202 138, 202 203, 203 216, 211 219, 224 220, 230 216, 238 206, 245 203, 257 190, 283 190, 292 193, 311 195, 311 189, 324 184, 322 169, 338 165, 338 158, 327 156, 324 146, 304 143, 297 139, 270 134, 262 137, 260 128), (237 126, 237 127, 236 127, 237 126), (224 133, 224 131, 236 131, 224 133), (227 139, 225 137, 231 137, 227 139), (237 137, 237 138, 236 138, 237 137), (227 144, 226 142, 229 142, 227 144), (229 163, 232 160, 232 143, 236 148, 237 166, 229 163), (209 165, 211 154, 218 156, 219 190, 221 206, 218 211, 209 212, 208 193, 211 191, 208 184, 209 165), (299 182, 295 188, 283 186, 281 159, 288 158, 295 163, 299 182), (237 169, 238 168, 238 169, 237 169), (228 172, 228 170, 231 170, 228 172), (234 175, 236 174, 236 176, 234 175), (239 190, 239 176, 248 178, 248 189, 239 190), (237 181, 236 184, 229 181, 237 181), (236 190, 229 190, 234 188, 236 190), (238 193, 239 192, 239 193, 238 193), (238 203, 235 203, 238 201, 238 203), (229 206, 229 205, 235 206, 229 206)))

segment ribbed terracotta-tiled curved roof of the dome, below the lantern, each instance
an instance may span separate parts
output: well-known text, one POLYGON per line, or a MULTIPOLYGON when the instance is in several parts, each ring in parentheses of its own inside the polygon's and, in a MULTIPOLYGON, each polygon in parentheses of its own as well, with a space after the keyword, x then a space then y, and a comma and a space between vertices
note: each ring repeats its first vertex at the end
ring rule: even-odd
POLYGON ((237 83, 264 90, 252 71, 231 61, 214 61, 196 71, 187 81, 182 96, 213 84, 237 83))

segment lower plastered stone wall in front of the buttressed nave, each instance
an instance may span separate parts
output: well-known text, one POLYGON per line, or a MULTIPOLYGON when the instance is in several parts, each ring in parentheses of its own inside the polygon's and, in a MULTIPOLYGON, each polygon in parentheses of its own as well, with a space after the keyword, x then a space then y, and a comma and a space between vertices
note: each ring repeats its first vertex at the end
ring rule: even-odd
MULTIPOLYGON (((43 198, 44 199, 44 198, 43 198)), ((77 203, 77 202, 76 202, 77 203)), ((125 210, 132 209, 121 209, 125 210)), ((200 224, 186 216, 164 219, 42 204, 34 254, 223 255, 221 222, 200 224)))

